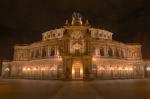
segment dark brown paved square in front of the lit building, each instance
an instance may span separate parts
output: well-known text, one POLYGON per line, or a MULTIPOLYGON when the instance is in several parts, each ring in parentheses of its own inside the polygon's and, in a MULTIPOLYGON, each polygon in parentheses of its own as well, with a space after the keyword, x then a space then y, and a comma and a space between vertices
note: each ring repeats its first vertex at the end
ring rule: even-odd
POLYGON ((150 99, 150 79, 3 80, 0 99, 150 99))

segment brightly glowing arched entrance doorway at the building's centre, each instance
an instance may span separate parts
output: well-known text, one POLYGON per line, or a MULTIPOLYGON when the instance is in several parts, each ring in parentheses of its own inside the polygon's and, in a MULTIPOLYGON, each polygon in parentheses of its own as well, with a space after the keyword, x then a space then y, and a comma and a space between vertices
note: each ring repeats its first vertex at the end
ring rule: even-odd
POLYGON ((72 79, 83 79, 83 64, 80 61, 75 61, 72 64, 72 79))

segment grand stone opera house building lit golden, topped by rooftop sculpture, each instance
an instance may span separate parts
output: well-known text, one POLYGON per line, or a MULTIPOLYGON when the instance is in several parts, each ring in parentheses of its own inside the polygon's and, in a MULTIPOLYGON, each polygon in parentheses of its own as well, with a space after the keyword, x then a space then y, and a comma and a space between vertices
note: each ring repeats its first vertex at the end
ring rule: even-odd
MULTIPOLYGON (((13 61, 4 61, 2 77, 27 79, 143 78, 141 45, 112 39, 74 13, 63 28, 42 34, 42 41, 16 45, 13 61)), ((148 68, 147 68, 148 69, 148 68)), ((149 68, 150 69, 150 68, 149 68)))

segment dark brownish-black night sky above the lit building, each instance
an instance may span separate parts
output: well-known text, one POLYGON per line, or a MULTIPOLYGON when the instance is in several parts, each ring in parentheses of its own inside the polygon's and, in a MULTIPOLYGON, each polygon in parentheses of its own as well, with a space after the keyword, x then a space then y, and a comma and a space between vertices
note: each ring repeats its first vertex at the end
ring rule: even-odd
POLYGON ((0 58, 12 59, 15 44, 41 40, 73 12, 113 32, 115 40, 142 44, 143 58, 150 59, 149 0, 0 0, 0 58))

